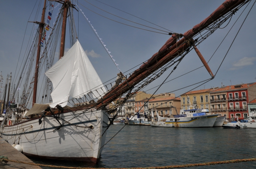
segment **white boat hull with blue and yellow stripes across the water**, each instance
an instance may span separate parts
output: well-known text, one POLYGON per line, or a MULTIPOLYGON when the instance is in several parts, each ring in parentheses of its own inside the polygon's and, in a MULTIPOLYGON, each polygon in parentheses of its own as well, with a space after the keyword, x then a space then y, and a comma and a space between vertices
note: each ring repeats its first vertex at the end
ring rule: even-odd
POLYGON ((167 118, 166 122, 154 122, 150 123, 153 127, 213 127, 216 115, 204 115, 197 117, 181 117, 181 118, 167 118), (170 119, 173 119, 171 121, 170 119), (175 121, 177 119, 177 121, 175 121), (180 119, 180 120, 178 120, 180 119))

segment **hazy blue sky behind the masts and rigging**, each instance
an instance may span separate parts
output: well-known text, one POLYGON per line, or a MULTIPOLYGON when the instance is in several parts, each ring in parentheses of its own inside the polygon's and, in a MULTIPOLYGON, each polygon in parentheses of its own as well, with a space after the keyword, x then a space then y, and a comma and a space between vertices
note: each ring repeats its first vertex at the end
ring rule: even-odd
MULTIPOLYGON (((157 29, 153 24, 140 20, 136 17, 123 13, 119 10, 106 6, 96 0, 87 0, 93 5, 113 13, 117 16, 123 17, 133 22, 148 25, 157 29)), ((187 30, 193 28, 194 25, 200 23, 203 19, 209 16, 218 6, 223 3, 224 0, 99 0, 110 6, 123 10, 127 13, 133 14, 137 17, 141 17, 144 20, 160 25, 163 28, 169 29, 177 33, 184 33, 187 30)), ((77 1, 73 1, 75 4, 77 1)), ((150 31, 136 29, 128 27, 126 25, 113 22, 100 15, 97 15, 83 6, 88 7, 96 13, 109 17, 113 20, 123 22, 125 24, 145 28, 128 21, 121 20, 113 15, 107 14, 102 10, 93 7, 84 0, 78 0, 79 7, 82 12, 89 19, 90 23, 96 29, 96 32, 102 38, 102 41, 107 45, 107 49, 114 56, 116 63, 119 64, 119 68, 122 72, 129 70, 130 68, 142 63, 149 59, 154 53, 156 53, 160 47, 170 37, 169 35, 158 34, 150 31), (83 6, 82 6, 82 5, 83 6)), ((20 59, 23 58, 24 52, 27 47, 28 37, 33 29, 33 23, 27 21, 40 21, 42 11, 42 1, 38 0, 23 0, 23 1, 2 1, 0 6, 0 71, 4 79, 7 73, 15 72, 16 65, 18 63, 19 54, 20 59), (41 7, 38 9, 39 3, 41 7), (32 12, 34 5, 35 9, 32 12), (39 10, 38 18, 35 19, 35 12, 39 10), (31 15, 32 13, 32 15, 31 15), (29 16, 31 17, 29 18, 29 16), (26 30, 27 26, 27 30, 26 30), (26 30, 26 34, 25 34, 26 30), (23 37, 25 34, 23 47, 21 48, 23 37)), ((57 5, 57 3, 55 4, 57 5)), ((214 54, 213 58, 209 62, 209 66, 213 73, 217 71, 225 53, 227 52, 231 42, 233 41, 238 29, 240 28, 245 16, 247 15, 252 2, 245 9, 240 19, 237 21, 233 29, 224 40, 223 44, 214 54)), ((208 61, 218 45, 221 43, 224 36, 227 34, 231 26, 236 21, 237 17, 241 14, 241 8, 232 18, 229 25, 224 29, 218 29, 213 35, 208 37, 203 43, 198 46, 198 49, 202 53, 203 57, 208 61)), ((55 11, 57 12, 57 11, 55 11)), ((53 13, 53 20, 56 13, 53 13)), ((255 82, 256 79, 256 6, 254 6, 245 21, 240 33, 238 34, 233 46, 231 47, 227 57, 225 58, 216 78, 197 89, 221 87, 221 83, 228 86, 232 83, 249 83, 255 82), (231 82, 230 82, 231 80, 231 82)), ((108 81, 114 78, 118 69, 115 67, 113 61, 109 58, 107 52, 104 50, 93 31, 87 24, 86 20, 82 17, 80 12, 74 11, 74 19, 76 24, 76 31, 79 33, 79 41, 83 49, 87 52, 90 61, 99 74, 102 82, 108 81)), ((225 25, 225 24, 224 24, 225 25)), ((66 50, 70 48, 69 41, 66 42, 66 50)), ((58 59, 56 58, 55 61, 58 59)), ((18 67, 20 66, 20 61, 18 67)), ((187 73, 197 67, 202 66, 202 63, 195 51, 192 50, 182 60, 181 64, 175 70, 175 72, 168 78, 171 80, 187 73)), ((172 69, 172 68, 171 68, 172 69)), ((161 84, 161 82, 170 73, 171 69, 164 73, 162 77, 151 83, 145 90, 161 84)), ((17 74, 17 73, 16 73, 17 74)), ((173 91, 181 87, 188 86, 210 78, 210 75, 204 67, 177 78, 164 84, 157 93, 163 93, 173 91)), ((5 82, 5 81, 4 81, 5 82)), ((186 88, 175 92, 176 95, 180 95, 190 90, 186 88)), ((153 90, 149 90, 149 93, 154 93, 153 90)))

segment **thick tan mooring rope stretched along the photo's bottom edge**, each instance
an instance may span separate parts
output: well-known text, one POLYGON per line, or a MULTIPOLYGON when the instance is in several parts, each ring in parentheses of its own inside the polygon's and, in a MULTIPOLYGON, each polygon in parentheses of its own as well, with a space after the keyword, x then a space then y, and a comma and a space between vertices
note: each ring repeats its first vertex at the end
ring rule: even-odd
MULTIPOLYGON (((34 166, 42 166, 42 167, 68 168, 68 169, 95 169, 95 168, 87 168, 87 167, 65 167, 65 166, 52 166, 52 165, 46 165, 46 164, 36 164, 36 163, 9 160, 7 158, 7 156, 0 156, 0 162, 7 163, 8 161, 22 163, 22 164, 30 164, 30 165, 34 165, 34 166)), ((256 161, 256 158, 206 162, 206 163, 197 163, 197 164, 184 164, 184 165, 176 165, 176 166, 162 166, 162 167, 97 168, 97 169, 167 169, 167 168, 210 166, 210 165, 216 165, 216 164, 240 163, 240 162, 247 162, 247 161, 256 161)))

